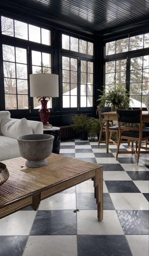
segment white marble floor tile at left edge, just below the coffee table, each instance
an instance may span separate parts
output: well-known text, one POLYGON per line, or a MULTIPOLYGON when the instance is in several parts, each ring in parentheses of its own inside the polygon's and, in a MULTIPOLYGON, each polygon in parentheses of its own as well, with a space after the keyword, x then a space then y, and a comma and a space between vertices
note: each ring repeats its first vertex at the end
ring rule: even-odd
POLYGON ((0 235, 29 235, 36 211, 17 211, 0 220, 0 235))

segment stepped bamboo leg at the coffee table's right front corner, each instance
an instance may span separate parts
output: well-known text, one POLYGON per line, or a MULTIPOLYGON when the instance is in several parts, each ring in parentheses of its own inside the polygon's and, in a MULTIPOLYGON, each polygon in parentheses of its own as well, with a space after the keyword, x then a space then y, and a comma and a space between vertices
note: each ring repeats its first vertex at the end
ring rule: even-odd
POLYGON ((97 169, 95 172, 94 187, 97 204, 97 217, 98 221, 101 221, 103 220, 103 169, 97 169))

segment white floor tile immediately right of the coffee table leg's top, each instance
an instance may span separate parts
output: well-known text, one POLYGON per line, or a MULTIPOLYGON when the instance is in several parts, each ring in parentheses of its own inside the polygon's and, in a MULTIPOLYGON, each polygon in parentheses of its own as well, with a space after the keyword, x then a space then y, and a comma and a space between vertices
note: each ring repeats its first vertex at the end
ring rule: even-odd
POLYGON ((103 171, 104 180, 132 180, 130 176, 123 171, 103 171))

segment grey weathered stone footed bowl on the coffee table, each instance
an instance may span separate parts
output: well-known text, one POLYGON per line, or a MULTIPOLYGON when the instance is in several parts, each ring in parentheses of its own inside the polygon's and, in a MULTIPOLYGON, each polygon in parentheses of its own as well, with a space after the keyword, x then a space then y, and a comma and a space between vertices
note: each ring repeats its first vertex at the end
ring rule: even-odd
POLYGON ((53 148, 54 136, 49 134, 28 134, 17 137, 20 154, 27 161, 27 167, 36 168, 46 165, 53 148))

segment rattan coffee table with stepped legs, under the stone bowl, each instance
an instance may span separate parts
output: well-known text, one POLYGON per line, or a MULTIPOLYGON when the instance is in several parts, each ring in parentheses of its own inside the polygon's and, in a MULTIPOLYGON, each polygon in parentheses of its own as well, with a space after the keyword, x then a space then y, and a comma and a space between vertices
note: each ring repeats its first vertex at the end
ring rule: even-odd
POLYGON ((3 161, 9 179, 0 186, 0 219, 41 200, 75 186, 94 180, 98 220, 103 219, 103 169, 101 165, 52 153, 48 164, 40 168, 25 167, 22 157, 3 161))

